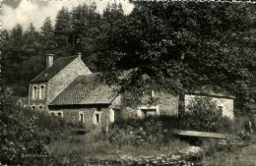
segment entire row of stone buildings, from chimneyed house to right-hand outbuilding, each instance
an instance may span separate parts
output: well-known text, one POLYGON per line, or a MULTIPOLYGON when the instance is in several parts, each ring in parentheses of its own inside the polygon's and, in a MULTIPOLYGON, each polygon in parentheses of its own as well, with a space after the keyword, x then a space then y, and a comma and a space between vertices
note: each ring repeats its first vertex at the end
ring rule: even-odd
POLYGON ((121 118, 178 115, 180 102, 186 106, 196 95, 212 97, 224 116, 233 118, 234 97, 214 91, 175 95, 153 90, 146 98, 157 98, 157 102, 145 102, 135 109, 126 107, 121 110, 121 95, 87 68, 81 54, 59 58, 54 63, 53 55, 49 54, 46 56, 46 69, 30 83, 28 105, 32 110, 45 110, 51 115, 80 121, 87 126, 101 126, 121 118))

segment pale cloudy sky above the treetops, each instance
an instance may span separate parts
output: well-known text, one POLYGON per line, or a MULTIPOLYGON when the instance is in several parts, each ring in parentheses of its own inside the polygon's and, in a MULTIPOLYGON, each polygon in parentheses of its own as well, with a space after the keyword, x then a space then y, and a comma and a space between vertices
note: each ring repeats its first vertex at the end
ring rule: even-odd
POLYGON ((58 11, 64 6, 71 11, 74 7, 96 2, 96 12, 102 14, 107 4, 120 2, 125 15, 132 12, 134 6, 128 0, 5 0, 2 4, 2 28, 12 29, 17 24, 21 24, 24 29, 33 26, 40 30, 43 22, 50 17, 52 24, 55 24, 55 18, 58 11))

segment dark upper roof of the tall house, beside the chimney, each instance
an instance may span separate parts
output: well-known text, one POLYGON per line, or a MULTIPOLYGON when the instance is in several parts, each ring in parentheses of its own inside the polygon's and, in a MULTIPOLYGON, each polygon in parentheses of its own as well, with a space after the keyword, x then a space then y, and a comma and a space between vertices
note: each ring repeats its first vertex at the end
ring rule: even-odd
POLYGON ((78 56, 70 56, 57 59, 51 67, 43 70, 31 83, 48 82, 77 57, 78 56))

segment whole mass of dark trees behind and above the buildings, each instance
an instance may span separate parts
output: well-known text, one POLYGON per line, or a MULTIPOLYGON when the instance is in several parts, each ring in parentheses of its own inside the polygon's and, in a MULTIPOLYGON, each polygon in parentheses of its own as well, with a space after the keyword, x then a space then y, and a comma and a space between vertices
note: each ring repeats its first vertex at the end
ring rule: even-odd
POLYGON ((255 101, 253 5, 132 3, 127 16, 120 4, 108 6, 102 15, 96 4, 83 5, 61 9, 54 28, 47 18, 39 32, 32 25, 3 30, 3 85, 25 96, 44 68, 46 53, 59 58, 81 52, 92 71, 130 93, 129 103, 148 89, 179 93, 203 85, 224 88, 243 103, 255 101))

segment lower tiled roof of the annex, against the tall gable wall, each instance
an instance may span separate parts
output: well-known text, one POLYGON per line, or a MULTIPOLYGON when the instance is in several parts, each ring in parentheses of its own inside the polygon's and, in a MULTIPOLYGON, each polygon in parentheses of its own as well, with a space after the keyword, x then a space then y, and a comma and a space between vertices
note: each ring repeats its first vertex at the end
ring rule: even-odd
POLYGON ((49 105, 111 104, 116 92, 98 74, 78 76, 49 105))

